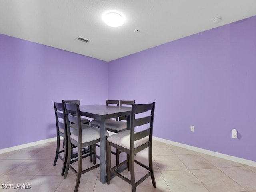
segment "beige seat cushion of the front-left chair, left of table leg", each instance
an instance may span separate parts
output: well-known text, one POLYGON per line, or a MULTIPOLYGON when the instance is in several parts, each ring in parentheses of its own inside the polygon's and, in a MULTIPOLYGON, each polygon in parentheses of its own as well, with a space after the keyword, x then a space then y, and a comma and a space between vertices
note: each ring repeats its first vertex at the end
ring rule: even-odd
MULTIPOLYGON (((108 132, 106 131, 106 136, 108 136, 108 132)), ((74 139, 75 141, 78 142, 78 136, 75 134, 71 134, 70 138, 74 139)), ((90 127, 82 130, 82 142, 90 142, 93 140, 100 139, 100 128, 96 127, 90 127)))

